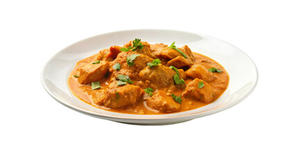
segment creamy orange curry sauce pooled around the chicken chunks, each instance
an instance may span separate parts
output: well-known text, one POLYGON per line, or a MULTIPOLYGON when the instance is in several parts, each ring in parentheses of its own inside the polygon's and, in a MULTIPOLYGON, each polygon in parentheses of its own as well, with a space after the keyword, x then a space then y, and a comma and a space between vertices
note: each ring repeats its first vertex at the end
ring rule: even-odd
MULTIPOLYGON (((217 100, 217 98, 220 97, 220 95, 222 95, 222 93, 224 93, 227 86, 229 85, 229 74, 226 72, 226 70, 224 69, 222 65, 215 62, 215 60, 211 58, 201 55, 199 53, 193 53, 193 56, 195 57, 195 62, 193 62, 194 64, 200 64, 204 66, 204 68, 206 68, 207 70, 208 68, 212 68, 212 67, 218 68, 222 72, 213 73, 216 79, 213 81, 207 82, 208 84, 210 84, 211 89, 213 91, 213 96, 214 96, 213 100, 211 100, 210 102, 202 102, 196 99, 191 99, 191 98, 186 98, 185 96, 181 96, 182 102, 180 104, 179 111, 165 112, 165 111, 158 111, 155 109, 151 109, 150 107, 147 107, 146 98, 150 98, 150 97, 145 93, 141 95, 141 98, 139 98, 135 104, 129 105, 127 107, 111 109, 103 105, 96 104, 97 103, 96 100, 98 100, 98 98, 100 98, 105 93, 106 89, 109 86, 111 73, 109 73, 108 77, 105 77, 102 80, 100 80, 101 88, 95 89, 95 90, 91 90, 91 84, 79 84, 78 78, 73 76, 73 75, 80 74, 79 68, 83 66, 84 64, 95 62, 97 60, 96 55, 92 55, 91 57, 82 59, 80 62, 76 64, 75 68, 69 75, 69 80, 68 80, 69 89, 71 89, 72 93, 75 96, 77 96, 80 100, 87 102, 88 104, 91 104, 94 107, 98 107, 100 109, 105 109, 107 111, 114 111, 118 113, 132 113, 132 114, 145 114, 145 115, 153 114, 154 115, 154 114, 175 113, 175 112, 181 112, 181 111, 188 111, 191 109, 197 109, 199 107, 203 107, 207 104, 214 102, 215 100, 217 100)), ((132 81, 134 81, 134 85, 137 85, 137 86, 141 85, 138 80, 132 80, 132 81)), ((170 95, 170 93, 173 93, 179 96, 185 91, 187 84, 193 81, 193 78, 186 77, 184 81, 185 81, 185 84, 182 86, 173 85, 173 86, 176 86, 176 88, 174 88, 173 91, 165 87, 161 89, 154 89, 153 94, 161 90, 161 91, 167 92, 168 95, 170 95)))

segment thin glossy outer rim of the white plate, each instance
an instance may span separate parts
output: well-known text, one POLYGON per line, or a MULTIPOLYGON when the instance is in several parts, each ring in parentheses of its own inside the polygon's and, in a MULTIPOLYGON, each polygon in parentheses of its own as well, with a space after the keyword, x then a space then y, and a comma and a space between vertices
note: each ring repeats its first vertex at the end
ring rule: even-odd
MULTIPOLYGON (((62 48, 60 51, 58 51, 57 53, 55 53, 55 55, 53 55, 51 58, 49 58, 46 63, 44 64, 43 68, 42 68, 42 71, 40 73, 40 78, 41 78, 41 82, 42 82, 42 85, 44 87, 44 89, 46 90, 46 92, 51 95, 52 98, 54 98, 57 102, 60 102, 60 104, 63 104, 64 106, 70 108, 70 109, 73 109, 74 111, 78 111, 80 113, 85 113, 89 116, 95 116, 97 118, 104 118, 104 119, 109 119, 109 120, 114 120, 114 121, 120 121, 120 120, 175 120, 175 119, 179 119, 179 118, 189 118, 190 119, 195 119, 195 118, 201 118, 201 117, 204 117, 204 116, 209 116, 209 115, 212 115, 214 113, 218 113, 220 111, 224 111, 226 109, 229 109, 233 106, 235 106, 236 104, 242 102, 242 100, 244 100, 245 98, 247 98, 255 89, 256 89, 256 86, 258 84, 258 79, 259 79, 259 73, 258 73, 258 68, 256 66, 256 64, 253 62, 253 59, 251 59, 251 57, 249 57, 249 55, 247 55, 247 53, 244 53, 243 50, 241 50, 240 48, 234 46, 233 44, 230 44, 229 42, 225 42, 224 40, 222 39, 218 39, 216 37, 211 37, 211 36, 208 36, 208 35, 204 35, 206 37, 210 37, 210 38, 213 38, 213 39, 217 39, 217 40, 220 40, 222 42, 225 42, 226 44, 229 44, 231 46, 233 46, 233 48, 236 48, 238 50, 240 50, 242 53, 244 53, 244 55, 246 55, 249 60, 251 61, 251 63, 253 64, 254 68, 255 68, 255 73, 256 73, 256 77, 255 77, 255 82, 253 83, 252 87, 251 87, 251 90, 248 91, 246 94, 244 94, 240 99, 236 100, 235 102, 231 103, 231 104, 227 104, 226 106, 224 107, 220 107, 220 108, 216 108, 216 109, 211 109, 211 110, 208 110, 208 111, 202 111, 202 112, 199 112, 199 113, 190 113, 190 114, 186 114, 186 115, 181 115, 181 116, 172 116, 172 117, 144 117, 145 115, 142 115, 143 117, 131 117, 131 116, 114 116, 114 115, 106 115, 106 114, 103 114, 103 113, 97 113, 97 112, 93 112, 93 111, 89 111, 87 109, 82 109, 80 107, 75 107, 73 106, 72 104, 69 104, 67 102, 64 102, 62 99, 58 98, 56 95, 54 95, 50 89, 48 89, 48 87, 46 86, 45 84, 45 80, 44 80, 44 71, 46 69, 46 66, 48 66, 48 64, 51 62, 52 59, 54 59, 57 55, 59 55, 62 50, 65 50, 66 48, 69 48, 71 46, 73 46, 74 44, 78 44, 79 42, 83 42, 83 41, 86 41, 88 39, 91 39, 91 38, 94 38, 94 37, 98 37, 98 36, 101 36, 101 35, 109 35, 111 33, 124 33, 124 32, 130 32, 130 31, 146 31, 146 30, 162 30, 162 31, 174 31, 174 32, 177 32, 177 33, 191 33, 192 35, 203 35, 201 33, 192 33, 192 32, 189 32, 189 31, 183 31, 183 30, 172 30, 172 29, 149 29, 149 28, 145 28, 145 29, 132 29, 132 30, 118 30, 118 31, 112 31, 112 32, 109 32, 109 33, 101 33, 101 34, 98 34, 98 35, 93 35, 91 37, 87 37, 85 39, 81 39, 79 40, 78 42, 74 42, 73 44, 70 44, 69 46, 66 46, 64 48, 62 48)), ((84 102, 84 101, 83 101, 84 102)), ((85 104, 87 104, 86 102, 84 102, 85 104)), ((100 109, 100 108, 97 108, 96 109, 100 109)), ((101 109, 103 111, 107 111, 105 109, 101 109)), ((193 109, 194 110, 194 109, 193 109)), ((122 115, 129 115, 130 113, 119 113, 119 114, 122 114, 122 115)), ((169 113, 169 114, 172 114, 172 113, 169 113)), ((132 115, 132 114, 131 114, 132 115)))

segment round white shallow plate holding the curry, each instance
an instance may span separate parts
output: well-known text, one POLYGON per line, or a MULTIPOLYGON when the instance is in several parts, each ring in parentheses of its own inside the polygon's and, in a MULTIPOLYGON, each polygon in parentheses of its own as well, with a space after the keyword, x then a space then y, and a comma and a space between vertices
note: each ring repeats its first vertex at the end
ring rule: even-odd
POLYGON ((55 100, 89 116, 131 124, 173 124, 208 116, 238 104, 255 89, 258 71, 242 50, 220 39, 175 30, 124 30, 90 37, 64 48, 44 66, 41 80, 46 91, 55 100), (105 111, 86 104, 71 93, 67 80, 79 60, 98 53, 102 48, 123 46, 135 38, 151 44, 171 44, 176 41, 179 47, 186 44, 194 52, 215 59, 229 72, 228 89, 218 100, 205 107, 165 115, 132 115, 105 111))

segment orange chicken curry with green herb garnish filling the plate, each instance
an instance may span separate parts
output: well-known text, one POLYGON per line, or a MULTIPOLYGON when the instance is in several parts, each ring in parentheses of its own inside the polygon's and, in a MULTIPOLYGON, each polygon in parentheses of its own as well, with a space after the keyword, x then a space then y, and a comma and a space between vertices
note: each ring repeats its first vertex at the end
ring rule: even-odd
POLYGON ((134 39, 82 59, 69 75, 69 89, 94 107, 118 113, 188 111, 217 100, 229 74, 213 59, 175 42, 134 39))

